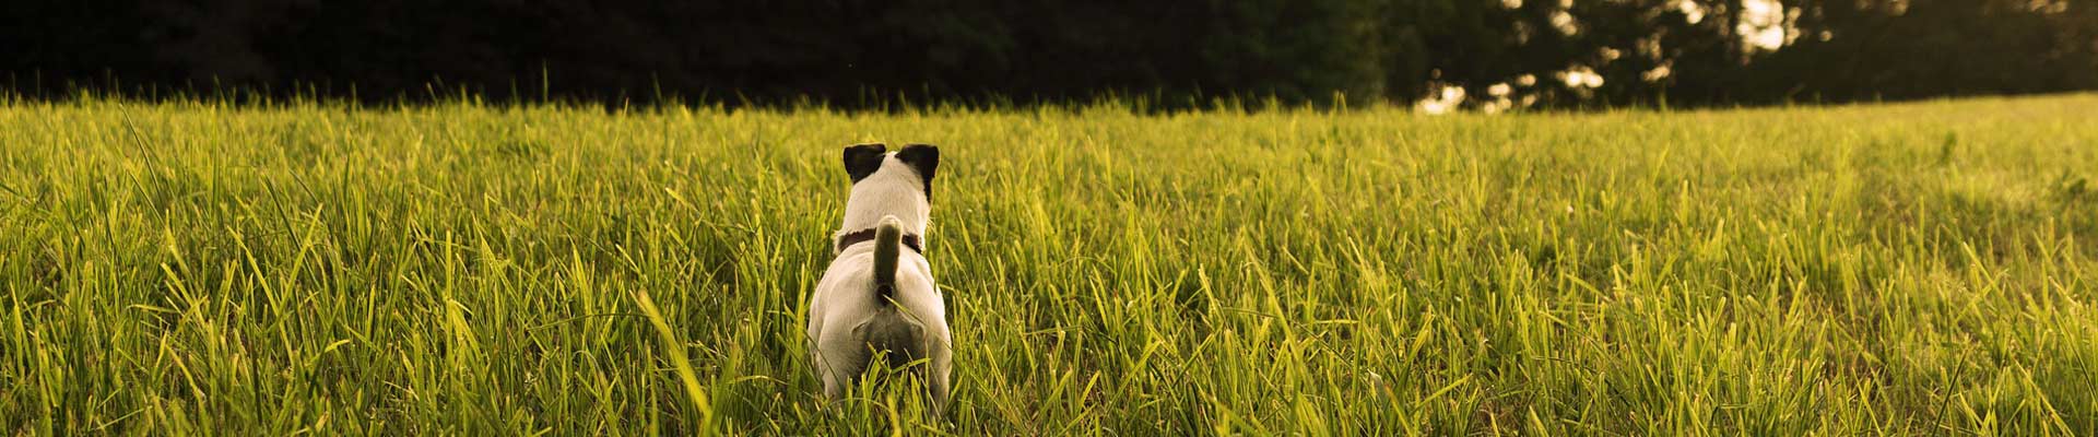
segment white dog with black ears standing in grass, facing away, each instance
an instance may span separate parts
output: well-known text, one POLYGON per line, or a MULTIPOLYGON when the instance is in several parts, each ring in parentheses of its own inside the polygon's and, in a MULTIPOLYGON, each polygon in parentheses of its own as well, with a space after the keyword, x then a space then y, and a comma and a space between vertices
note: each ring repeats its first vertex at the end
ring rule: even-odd
POLYGON ((923 376, 934 414, 944 416, 952 336, 946 305, 925 263, 932 176, 940 147, 864 143, 845 147, 852 197, 831 235, 837 258, 808 305, 810 361, 822 395, 841 399, 875 359, 923 376))

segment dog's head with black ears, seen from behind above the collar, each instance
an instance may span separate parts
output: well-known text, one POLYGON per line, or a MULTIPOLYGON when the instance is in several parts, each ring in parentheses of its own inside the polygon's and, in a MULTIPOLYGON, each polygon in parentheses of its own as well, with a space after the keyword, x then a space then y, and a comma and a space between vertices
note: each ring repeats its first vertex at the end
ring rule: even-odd
POLYGON ((852 197, 845 200, 845 223, 839 233, 871 229, 881 216, 896 216, 904 231, 923 235, 932 221, 932 174, 940 166, 940 147, 866 143, 845 147, 845 174, 852 176, 852 197))

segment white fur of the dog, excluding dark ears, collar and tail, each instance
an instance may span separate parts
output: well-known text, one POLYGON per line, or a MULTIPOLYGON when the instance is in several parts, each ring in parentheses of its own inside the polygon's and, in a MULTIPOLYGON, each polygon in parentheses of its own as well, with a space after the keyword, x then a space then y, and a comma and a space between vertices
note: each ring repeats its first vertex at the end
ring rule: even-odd
MULTIPOLYGON (((833 250, 837 237, 881 227, 885 221, 925 242, 932 214, 927 183, 911 164, 898 160, 896 151, 885 151, 879 170, 852 185, 845 221, 831 235, 833 250)), ((890 353, 892 363, 902 361, 894 355, 925 359, 921 376, 932 389, 934 410, 944 414, 952 351, 946 305, 934 284, 932 265, 923 254, 900 248, 894 305, 881 303, 873 273, 879 244, 883 242, 871 240, 839 250, 810 296, 810 357, 822 378, 822 393, 829 399, 843 397, 873 363, 875 353, 887 349, 881 353, 890 353)))

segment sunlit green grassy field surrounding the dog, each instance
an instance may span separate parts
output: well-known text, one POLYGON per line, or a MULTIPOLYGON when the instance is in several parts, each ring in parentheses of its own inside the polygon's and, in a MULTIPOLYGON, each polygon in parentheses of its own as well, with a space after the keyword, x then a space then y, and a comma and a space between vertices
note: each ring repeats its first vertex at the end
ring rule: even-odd
POLYGON ((15 101, 0 435, 2098 435, 2094 113, 15 101), (858 141, 948 420, 814 397, 858 141))

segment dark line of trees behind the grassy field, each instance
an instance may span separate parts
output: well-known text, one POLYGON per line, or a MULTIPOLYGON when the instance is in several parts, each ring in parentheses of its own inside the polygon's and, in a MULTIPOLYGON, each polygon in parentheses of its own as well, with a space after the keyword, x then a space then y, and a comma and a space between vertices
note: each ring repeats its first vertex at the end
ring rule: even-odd
POLYGON ((1737 105, 2098 88, 2094 6, 15 0, 0 2, 0 67, 6 88, 31 97, 243 88, 869 105, 1125 95, 1173 105, 1408 103, 1458 86, 1469 105, 1737 105))

